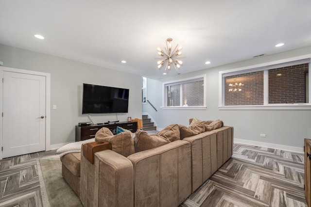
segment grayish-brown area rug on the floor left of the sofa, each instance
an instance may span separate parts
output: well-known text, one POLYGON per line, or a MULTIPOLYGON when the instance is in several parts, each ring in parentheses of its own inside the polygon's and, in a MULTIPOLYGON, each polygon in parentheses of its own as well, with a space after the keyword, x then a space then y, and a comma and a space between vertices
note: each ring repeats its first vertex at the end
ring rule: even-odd
POLYGON ((37 160, 44 207, 83 207, 78 195, 62 176, 59 156, 37 160))

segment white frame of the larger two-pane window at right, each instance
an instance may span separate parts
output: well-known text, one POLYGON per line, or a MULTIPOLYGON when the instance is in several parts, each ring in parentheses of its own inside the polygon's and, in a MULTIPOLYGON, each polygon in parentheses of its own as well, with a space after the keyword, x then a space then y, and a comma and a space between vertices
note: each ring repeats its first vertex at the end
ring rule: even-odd
MULTIPOLYGON (((311 77, 309 75, 309 103, 290 103, 290 104, 269 104, 268 103, 268 70, 282 66, 281 64, 287 64, 291 62, 299 62, 305 59, 310 59, 311 54, 301 55, 293 58, 287 58, 263 64, 250 65, 240 68, 234 68, 225 71, 219 71, 219 101, 218 109, 220 110, 310 110, 311 109, 311 77), (224 74, 229 76, 230 74, 247 73, 248 71, 263 70, 263 105, 237 105, 237 106, 225 106, 225 81, 224 74)), ((299 63, 297 63, 299 64, 299 63)), ((311 63, 309 62, 309 72, 311 71, 311 63)))

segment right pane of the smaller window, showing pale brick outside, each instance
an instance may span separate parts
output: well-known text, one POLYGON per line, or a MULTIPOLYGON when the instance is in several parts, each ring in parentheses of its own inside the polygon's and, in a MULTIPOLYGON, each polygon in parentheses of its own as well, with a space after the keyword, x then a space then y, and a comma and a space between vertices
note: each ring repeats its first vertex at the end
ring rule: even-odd
POLYGON ((183 83, 183 103, 188 106, 203 106, 204 105, 204 81, 183 83))

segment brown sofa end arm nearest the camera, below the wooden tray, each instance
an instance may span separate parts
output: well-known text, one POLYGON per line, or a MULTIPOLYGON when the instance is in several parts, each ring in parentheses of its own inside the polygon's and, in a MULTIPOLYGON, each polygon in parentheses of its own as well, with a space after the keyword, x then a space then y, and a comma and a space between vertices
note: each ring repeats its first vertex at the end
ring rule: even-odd
POLYGON ((94 154, 94 164, 91 164, 83 156, 83 146, 81 148, 80 200, 83 206, 133 206, 132 162, 112 150, 104 150, 94 154))

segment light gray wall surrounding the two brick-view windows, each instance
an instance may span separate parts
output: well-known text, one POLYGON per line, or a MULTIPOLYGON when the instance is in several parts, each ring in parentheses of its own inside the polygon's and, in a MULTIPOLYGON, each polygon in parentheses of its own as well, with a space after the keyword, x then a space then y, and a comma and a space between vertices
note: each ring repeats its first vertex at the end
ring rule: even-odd
MULTIPOLYGON (((219 110, 218 90, 219 71, 306 54, 311 54, 311 47, 209 68, 190 74, 176 75, 174 78, 163 80, 148 79, 147 97, 159 109, 156 115, 158 128, 164 128, 172 123, 188 126, 189 118, 193 116, 201 120, 221 119, 225 125, 234 127, 234 137, 236 139, 302 147, 303 139, 311 138, 311 110, 219 110), (202 74, 206 74, 207 77, 207 110, 160 109, 160 106, 162 106, 162 82, 185 79, 202 74), (150 96, 150 91, 152 96, 150 96), (261 133, 266 134, 267 137, 260 137, 261 133)), ((143 107, 143 112, 148 112, 148 110, 147 106, 143 107)))

